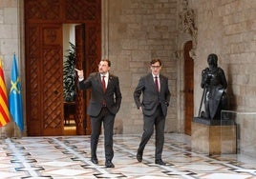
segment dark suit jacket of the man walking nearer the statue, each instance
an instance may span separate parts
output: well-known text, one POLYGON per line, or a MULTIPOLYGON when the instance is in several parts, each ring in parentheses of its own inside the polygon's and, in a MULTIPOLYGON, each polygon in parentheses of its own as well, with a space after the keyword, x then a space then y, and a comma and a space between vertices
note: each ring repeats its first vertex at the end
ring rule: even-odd
POLYGON ((160 92, 157 91, 152 73, 139 79, 139 84, 134 91, 134 100, 139 109, 142 107, 144 115, 152 115, 159 104, 164 116, 167 114, 167 107, 170 102, 170 90, 168 88, 168 78, 160 74, 160 92), (139 96, 142 92, 142 101, 139 96))

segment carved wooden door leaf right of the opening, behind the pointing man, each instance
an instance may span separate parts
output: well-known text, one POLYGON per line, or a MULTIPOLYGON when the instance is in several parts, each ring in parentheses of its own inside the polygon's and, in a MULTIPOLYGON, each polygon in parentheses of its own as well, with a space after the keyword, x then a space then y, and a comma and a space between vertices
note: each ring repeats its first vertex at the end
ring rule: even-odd
MULTIPOLYGON (((100 30, 94 24, 87 23, 75 26, 75 67, 84 70, 87 77, 90 72, 97 71, 100 60, 100 44, 98 34, 100 30)), ((91 90, 76 91, 76 134, 91 134, 90 117, 86 114, 89 105, 91 90)))

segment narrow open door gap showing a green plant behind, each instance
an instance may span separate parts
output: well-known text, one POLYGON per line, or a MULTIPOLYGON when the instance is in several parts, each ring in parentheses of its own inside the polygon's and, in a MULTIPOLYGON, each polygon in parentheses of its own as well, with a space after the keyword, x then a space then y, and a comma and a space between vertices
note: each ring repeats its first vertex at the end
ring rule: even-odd
POLYGON ((63 24, 62 26, 64 135, 76 134, 75 26, 76 24, 63 24))

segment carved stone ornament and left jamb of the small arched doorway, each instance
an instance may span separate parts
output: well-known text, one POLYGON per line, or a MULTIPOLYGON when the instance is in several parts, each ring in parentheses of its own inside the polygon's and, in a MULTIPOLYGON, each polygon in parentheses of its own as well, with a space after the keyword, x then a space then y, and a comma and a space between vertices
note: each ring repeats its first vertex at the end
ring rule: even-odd
POLYGON ((192 41, 193 49, 190 56, 196 59, 197 49, 197 26, 196 13, 194 10, 188 9, 187 0, 183 0, 180 4, 177 50, 175 57, 177 60, 177 115, 178 115, 178 131, 184 132, 184 45, 188 41, 192 41))

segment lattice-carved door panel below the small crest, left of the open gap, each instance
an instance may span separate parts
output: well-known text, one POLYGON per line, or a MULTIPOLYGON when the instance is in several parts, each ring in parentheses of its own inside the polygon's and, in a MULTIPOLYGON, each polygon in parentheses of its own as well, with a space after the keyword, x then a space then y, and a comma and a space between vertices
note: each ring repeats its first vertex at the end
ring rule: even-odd
POLYGON ((63 67, 60 48, 43 50, 43 134, 63 134, 63 67), (54 75, 53 75, 54 74, 54 75))

